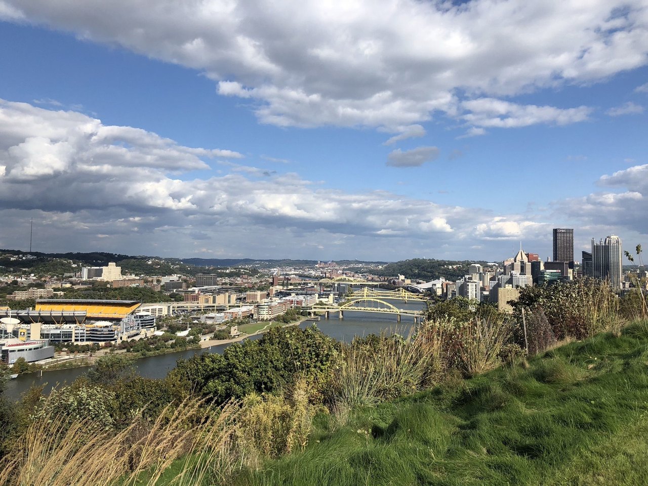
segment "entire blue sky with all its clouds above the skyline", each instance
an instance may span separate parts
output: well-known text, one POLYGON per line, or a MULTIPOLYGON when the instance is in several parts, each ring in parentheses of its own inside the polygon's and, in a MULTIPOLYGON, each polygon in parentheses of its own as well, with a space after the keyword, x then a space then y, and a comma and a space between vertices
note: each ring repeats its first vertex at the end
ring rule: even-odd
POLYGON ((0 248, 648 246, 648 0, 0 0, 0 248))

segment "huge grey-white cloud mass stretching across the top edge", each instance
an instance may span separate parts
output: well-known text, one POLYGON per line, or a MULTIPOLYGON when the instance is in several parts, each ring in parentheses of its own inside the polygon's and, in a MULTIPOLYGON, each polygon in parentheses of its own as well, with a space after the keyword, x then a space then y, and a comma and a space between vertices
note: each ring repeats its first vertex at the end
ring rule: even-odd
MULTIPOLYGON (((221 95, 254 100, 261 122, 369 126, 396 137, 436 111, 467 110, 462 101, 587 84, 646 65, 647 10, 643 0, 0 0, 2 19, 201 71, 221 95)), ((488 116, 481 106, 474 115, 475 126, 509 127, 582 121, 588 110, 488 116)))

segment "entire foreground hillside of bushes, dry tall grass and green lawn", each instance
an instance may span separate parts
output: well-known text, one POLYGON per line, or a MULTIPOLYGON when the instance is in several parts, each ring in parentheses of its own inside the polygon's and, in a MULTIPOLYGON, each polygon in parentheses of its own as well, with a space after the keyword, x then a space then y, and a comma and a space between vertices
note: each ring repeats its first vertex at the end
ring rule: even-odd
POLYGON ((45 467, 60 476, 33 476, 43 484, 74 483, 75 454, 119 444, 130 459, 110 462, 110 481, 123 484, 645 483, 648 321, 627 327, 641 312, 633 292, 577 281, 525 289, 513 316, 439 303, 406 336, 339 343, 273 327, 180 360, 165 380, 110 356, 47 399, 30 394, 4 478, 36 484, 23 470, 45 467), (61 431, 51 446, 34 440, 43 421, 61 431), (90 424, 78 442, 65 435, 90 424))

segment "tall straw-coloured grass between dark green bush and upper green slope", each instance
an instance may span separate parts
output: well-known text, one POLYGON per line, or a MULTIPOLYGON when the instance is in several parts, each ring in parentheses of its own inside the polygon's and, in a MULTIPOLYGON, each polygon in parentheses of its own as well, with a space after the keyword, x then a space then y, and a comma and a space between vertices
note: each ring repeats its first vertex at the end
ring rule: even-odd
POLYGON ((477 316, 467 322, 424 323, 407 338, 382 333, 374 340, 353 341, 333 376, 333 411, 411 395, 437 384, 449 369, 466 375, 489 371, 502 362, 512 336, 509 321, 477 316))

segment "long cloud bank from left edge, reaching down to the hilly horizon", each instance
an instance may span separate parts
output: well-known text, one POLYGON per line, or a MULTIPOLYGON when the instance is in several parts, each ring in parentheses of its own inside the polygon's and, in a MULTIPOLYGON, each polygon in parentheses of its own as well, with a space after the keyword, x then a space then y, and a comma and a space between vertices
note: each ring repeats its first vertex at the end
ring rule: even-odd
MULTIPOLYGON (((438 150, 394 153, 396 164, 411 166, 438 150)), ((207 167, 203 159, 223 155, 238 157, 181 146, 138 128, 106 126, 82 113, 0 102, 0 218, 5 229, 12 228, 0 232, 0 246, 20 247, 32 216, 34 248, 43 251, 176 256, 207 249, 214 255, 312 258, 330 241, 339 244, 327 257, 398 259, 411 251, 452 257, 462 245, 469 251, 475 238, 497 241, 513 234, 503 224, 476 234, 475 227, 492 220, 485 209, 329 189, 298 174, 230 160, 218 161, 224 175, 187 177, 207 167), (387 253, 376 248, 376 237, 393 240, 387 253), (276 248, 290 251, 277 255, 276 248)))

